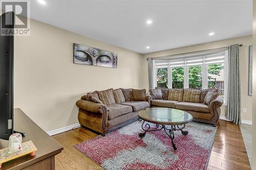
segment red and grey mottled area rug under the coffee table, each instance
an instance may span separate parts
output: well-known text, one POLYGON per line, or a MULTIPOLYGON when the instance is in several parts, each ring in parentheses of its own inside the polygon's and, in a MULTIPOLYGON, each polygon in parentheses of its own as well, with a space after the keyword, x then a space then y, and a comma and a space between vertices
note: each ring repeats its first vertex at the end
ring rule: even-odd
MULTIPOLYGON (((106 170, 144 169, 207 169, 217 128, 191 122, 184 130, 175 131, 177 150, 163 130, 142 132, 141 122, 134 122, 113 132, 76 144, 74 147, 106 170)), ((150 124, 151 127, 156 127, 150 124)))

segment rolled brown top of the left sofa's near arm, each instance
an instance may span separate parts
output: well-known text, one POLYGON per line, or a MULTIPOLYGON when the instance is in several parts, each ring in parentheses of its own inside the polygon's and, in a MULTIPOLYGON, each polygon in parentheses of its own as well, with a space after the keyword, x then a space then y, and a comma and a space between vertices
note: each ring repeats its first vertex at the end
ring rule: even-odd
POLYGON ((85 100, 79 100, 76 102, 76 106, 80 109, 87 110, 94 113, 104 113, 104 110, 106 110, 106 106, 103 104, 98 104, 90 101, 85 100))

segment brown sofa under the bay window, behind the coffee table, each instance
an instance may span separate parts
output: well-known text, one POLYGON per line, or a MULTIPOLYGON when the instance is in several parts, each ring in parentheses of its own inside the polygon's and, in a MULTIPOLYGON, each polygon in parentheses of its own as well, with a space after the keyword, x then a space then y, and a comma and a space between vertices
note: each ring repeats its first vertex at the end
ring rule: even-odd
POLYGON ((152 95, 151 107, 184 110, 190 113, 194 120, 209 123, 215 127, 219 122, 223 98, 219 96, 218 89, 156 88, 150 91, 152 95), (156 94, 156 91, 158 91, 158 94, 156 94))

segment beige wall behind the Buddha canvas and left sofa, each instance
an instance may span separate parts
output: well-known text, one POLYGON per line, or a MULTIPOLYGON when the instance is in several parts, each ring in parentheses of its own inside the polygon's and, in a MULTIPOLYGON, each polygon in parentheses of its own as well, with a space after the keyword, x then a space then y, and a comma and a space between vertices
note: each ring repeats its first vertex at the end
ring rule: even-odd
POLYGON ((139 88, 138 53, 31 20, 14 42, 14 108, 45 131, 78 123, 75 102, 88 91, 139 88), (73 64, 73 43, 118 53, 117 68, 73 64))

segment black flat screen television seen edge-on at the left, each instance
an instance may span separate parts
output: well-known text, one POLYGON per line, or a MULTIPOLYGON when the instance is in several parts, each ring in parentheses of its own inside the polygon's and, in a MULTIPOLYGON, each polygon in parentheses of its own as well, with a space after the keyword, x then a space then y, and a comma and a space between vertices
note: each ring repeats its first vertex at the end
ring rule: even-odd
MULTIPOLYGON (((14 28, 13 12, 4 13, 0 18, 2 28, 14 28)), ((0 35, 0 138, 6 140, 13 133, 13 43, 14 36, 0 35)))

